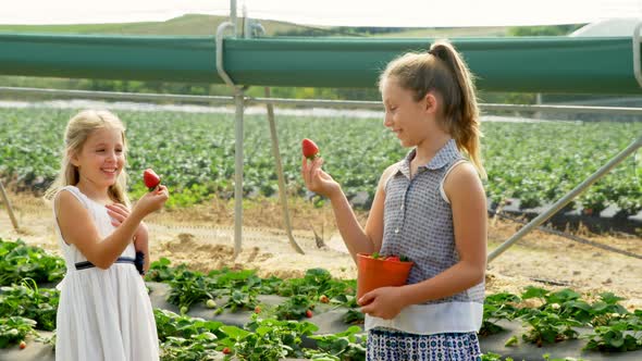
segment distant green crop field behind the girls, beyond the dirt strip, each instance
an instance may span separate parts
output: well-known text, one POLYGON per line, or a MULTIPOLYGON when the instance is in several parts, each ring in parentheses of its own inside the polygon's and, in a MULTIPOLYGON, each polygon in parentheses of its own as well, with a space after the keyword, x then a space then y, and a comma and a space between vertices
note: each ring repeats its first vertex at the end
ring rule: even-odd
MULTIPOLYGON (((0 109, 0 178, 18 190, 41 191, 59 166, 64 126, 75 112, 60 109, 0 109)), ((234 116, 182 112, 121 111, 129 140, 129 174, 138 179, 153 167, 172 191, 170 206, 231 197, 234 177, 234 116)), ((288 191, 303 196, 300 140, 320 146, 325 169, 349 197, 372 199, 381 172, 407 149, 378 119, 277 116, 288 191)), ((559 199, 618 151, 642 135, 642 122, 485 122, 483 158, 486 192, 493 202, 519 199, 534 208, 559 199)), ((245 123, 246 195, 277 190, 266 116, 245 123)), ((600 180, 573 204, 588 214, 609 206, 621 215, 642 210, 640 151, 600 180)), ((144 185, 131 184, 134 197, 144 185)))

